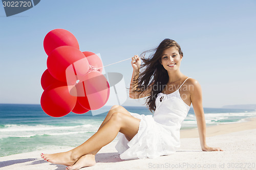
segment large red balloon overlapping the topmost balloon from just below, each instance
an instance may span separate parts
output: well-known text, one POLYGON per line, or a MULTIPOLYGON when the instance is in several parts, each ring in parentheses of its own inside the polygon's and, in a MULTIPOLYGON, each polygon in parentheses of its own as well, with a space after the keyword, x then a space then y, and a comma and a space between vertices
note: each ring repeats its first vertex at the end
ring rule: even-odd
POLYGON ((59 81, 67 81, 66 74, 85 75, 90 65, 83 53, 73 46, 60 46, 55 48, 47 59, 50 74, 59 81), (67 69, 75 64, 75 71, 67 69), (71 73, 66 72, 71 71, 71 73))

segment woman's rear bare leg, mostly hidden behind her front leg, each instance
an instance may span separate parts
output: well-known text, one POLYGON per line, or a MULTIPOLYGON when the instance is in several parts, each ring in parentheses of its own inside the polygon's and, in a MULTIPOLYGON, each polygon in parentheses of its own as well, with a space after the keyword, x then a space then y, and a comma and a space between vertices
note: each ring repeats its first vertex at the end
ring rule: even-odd
MULTIPOLYGON (((125 108, 123 108, 122 106, 118 106, 118 105, 115 105, 113 106, 108 115, 106 115, 104 121, 102 122, 102 124, 100 125, 99 129, 105 125, 106 122, 108 122, 108 120, 110 119, 110 117, 112 116, 112 114, 114 112, 122 112, 124 114, 127 114, 129 116, 131 116, 130 112, 127 111, 125 108)), ((77 170, 77 169, 80 169, 82 167, 87 167, 87 166, 93 166, 96 164, 96 161, 95 161, 95 155, 99 152, 100 149, 98 150, 95 150, 89 154, 86 154, 86 155, 83 155, 81 156, 76 162, 74 165, 72 166, 68 166, 67 169, 69 170, 77 170)))

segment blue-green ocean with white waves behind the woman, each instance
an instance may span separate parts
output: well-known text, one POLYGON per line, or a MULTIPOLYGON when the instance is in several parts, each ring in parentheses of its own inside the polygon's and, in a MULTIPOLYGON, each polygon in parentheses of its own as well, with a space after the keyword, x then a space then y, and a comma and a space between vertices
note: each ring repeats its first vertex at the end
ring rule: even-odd
MULTIPOLYGON (((145 106, 125 108, 133 113, 152 115, 145 106)), ((204 112, 206 126, 244 122, 245 118, 256 117, 254 109, 204 108, 204 112)), ((0 157, 77 147, 97 132, 106 114, 93 116, 90 111, 54 118, 42 111, 40 105, 0 104, 0 157)), ((195 113, 191 108, 181 129, 196 127, 195 113)))

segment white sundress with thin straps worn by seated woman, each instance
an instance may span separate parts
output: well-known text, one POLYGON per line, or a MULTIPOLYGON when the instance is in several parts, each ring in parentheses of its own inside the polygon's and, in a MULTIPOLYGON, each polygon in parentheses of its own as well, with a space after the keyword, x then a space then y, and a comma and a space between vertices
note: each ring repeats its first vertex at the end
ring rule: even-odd
POLYGON ((157 95, 154 115, 130 112, 140 119, 139 130, 130 141, 118 132, 115 148, 121 159, 156 158, 176 152, 180 147, 181 124, 190 109, 181 99, 179 89, 170 94, 157 95))

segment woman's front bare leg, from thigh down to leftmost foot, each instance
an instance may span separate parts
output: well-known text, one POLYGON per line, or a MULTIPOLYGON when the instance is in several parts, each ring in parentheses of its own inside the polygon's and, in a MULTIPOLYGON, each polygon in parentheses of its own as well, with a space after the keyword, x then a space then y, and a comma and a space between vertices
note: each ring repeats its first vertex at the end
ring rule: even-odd
POLYGON ((65 153, 46 154, 44 158, 51 163, 73 165, 81 156, 100 150, 110 143, 118 132, 132 139, 138 132, 139 123, 140 119, 114 112, 110 119, 83 144, 65 153))

